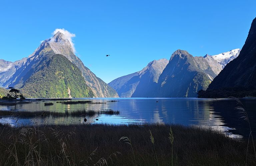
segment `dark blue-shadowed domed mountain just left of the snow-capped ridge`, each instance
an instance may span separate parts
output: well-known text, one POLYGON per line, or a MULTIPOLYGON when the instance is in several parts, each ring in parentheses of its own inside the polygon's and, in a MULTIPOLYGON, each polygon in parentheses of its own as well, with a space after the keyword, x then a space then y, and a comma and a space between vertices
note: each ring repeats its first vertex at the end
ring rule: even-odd
POLYGON ((193 57, 187 51, 175 51, 158 79, 157 97, 196 97, 206 89, 216 74, 203 57, 193 57))

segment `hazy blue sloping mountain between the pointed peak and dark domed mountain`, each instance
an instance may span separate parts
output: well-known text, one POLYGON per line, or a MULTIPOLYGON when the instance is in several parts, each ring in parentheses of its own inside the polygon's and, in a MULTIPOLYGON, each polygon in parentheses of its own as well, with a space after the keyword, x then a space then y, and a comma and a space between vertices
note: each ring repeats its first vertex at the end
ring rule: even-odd
POLYGON ((154 60, 141 71, 119 77, 109 83, 120 97, 147 97, 152 85, 158 81, 158 77, 167 65, 167 59, 154 60))

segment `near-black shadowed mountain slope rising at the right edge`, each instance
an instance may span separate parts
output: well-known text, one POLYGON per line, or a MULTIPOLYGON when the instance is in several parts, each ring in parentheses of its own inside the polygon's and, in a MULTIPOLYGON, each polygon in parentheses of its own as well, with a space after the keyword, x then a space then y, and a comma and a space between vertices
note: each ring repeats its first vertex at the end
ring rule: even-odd
POLYGON ((256 88, 256 18, 239 56, 224 67, 208 90, 236 86, 256 88))

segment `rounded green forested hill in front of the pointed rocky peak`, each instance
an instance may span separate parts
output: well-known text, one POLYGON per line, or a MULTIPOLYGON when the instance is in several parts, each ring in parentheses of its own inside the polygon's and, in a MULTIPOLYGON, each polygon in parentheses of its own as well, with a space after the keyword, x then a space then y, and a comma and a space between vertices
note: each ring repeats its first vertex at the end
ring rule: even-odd
MULTIPOLYGON (((46 54, 28 72, 30 77, 21 87, 25 97, 93 97, 81 71, 60 54, 46 54)), ((24 78, 26 75, 24 76, 24 78)))

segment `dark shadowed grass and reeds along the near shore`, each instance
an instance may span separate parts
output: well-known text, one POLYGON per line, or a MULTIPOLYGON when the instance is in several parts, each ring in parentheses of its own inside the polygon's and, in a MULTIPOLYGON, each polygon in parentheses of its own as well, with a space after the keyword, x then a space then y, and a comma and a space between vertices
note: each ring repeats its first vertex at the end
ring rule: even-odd
POLYGON ((181 125, 1 125, 0 165, 255 165, 247 141, 181 125))

